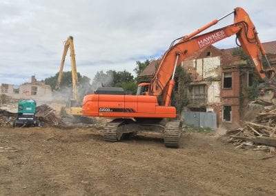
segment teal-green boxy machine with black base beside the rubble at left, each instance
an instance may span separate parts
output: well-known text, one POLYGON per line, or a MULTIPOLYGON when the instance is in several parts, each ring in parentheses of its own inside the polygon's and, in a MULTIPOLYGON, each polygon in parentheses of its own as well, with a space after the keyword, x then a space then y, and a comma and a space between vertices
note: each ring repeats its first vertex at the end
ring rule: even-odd
POLYGON ((13 126, 36 126, 37 119, 35 112, 37 102, 34 100, 23 100, 18 103, 17 117, 14 119, 13 126))

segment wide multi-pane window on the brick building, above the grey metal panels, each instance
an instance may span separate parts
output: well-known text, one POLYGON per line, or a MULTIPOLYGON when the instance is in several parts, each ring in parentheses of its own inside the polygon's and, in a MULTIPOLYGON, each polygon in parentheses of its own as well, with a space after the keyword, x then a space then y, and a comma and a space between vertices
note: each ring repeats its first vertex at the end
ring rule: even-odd
POLYGON ((206 104, 206 88, 205 85, 194 85, 190 92, 191 104, 206 104))

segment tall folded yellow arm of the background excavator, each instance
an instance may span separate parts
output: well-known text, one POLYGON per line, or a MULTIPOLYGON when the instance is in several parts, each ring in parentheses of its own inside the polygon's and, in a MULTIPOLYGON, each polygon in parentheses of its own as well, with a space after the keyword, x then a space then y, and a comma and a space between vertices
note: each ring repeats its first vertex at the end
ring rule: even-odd
POLYGON ((69 36, 68 39, 64 43, 64 49, 63 49, 63 55, 61 59, 61 66, 59 68, 59 77, 57 78, 57 86, 56 89, 60 88, 61 84, 61 77, 64 67, 65 58, 68 52, 68 49, 70 49, 70 61, 71 61, 71 69, 72 69, 72 92, 73 92, 73 98, 79 103, 79 96, 77 93, 77 66, 76 66, 76 59, 75 59, 75 49, 74 49, 74 42, 73 37, 69 36))

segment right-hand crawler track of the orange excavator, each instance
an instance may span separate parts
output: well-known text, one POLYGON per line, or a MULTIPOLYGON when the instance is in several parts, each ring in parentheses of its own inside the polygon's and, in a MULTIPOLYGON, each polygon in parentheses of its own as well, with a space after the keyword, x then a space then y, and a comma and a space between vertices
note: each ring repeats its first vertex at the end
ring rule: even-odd
POLYGON ((164 144, 169 148, 179 148, 182 133, 182 122, 168 121, 164 129, 164 144))

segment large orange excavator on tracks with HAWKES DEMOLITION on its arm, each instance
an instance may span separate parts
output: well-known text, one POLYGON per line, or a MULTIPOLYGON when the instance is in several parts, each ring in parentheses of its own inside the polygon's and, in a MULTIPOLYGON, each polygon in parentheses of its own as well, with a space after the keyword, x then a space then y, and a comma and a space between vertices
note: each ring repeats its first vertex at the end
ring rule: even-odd
POLYGON ((103 137, 106 141, 118 141, 123 135, 138 130, 157 130, 164 133, 166 147, 178 148, 181 121, 175 119, 176 108, 170 106, 175 69, 194 52, 232 35, 237 36, 242 49, 252 59, 257 79, 273 81, 275 68, 270 67, 253 22, 242 8, 235 8, 224 17, 172 41, 154 77, 149 83, 139 84, 137 95, 86 95, 82 105, 83 115, 114 118, 104 128, 103 137), (230 14, 234 14, 233 24, 199 35, 230 14), (268 68, 264 68, 262 57, 266 59, 268 68))

